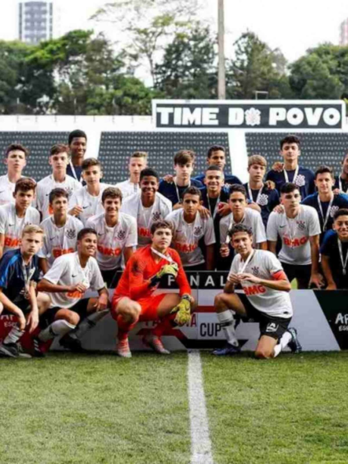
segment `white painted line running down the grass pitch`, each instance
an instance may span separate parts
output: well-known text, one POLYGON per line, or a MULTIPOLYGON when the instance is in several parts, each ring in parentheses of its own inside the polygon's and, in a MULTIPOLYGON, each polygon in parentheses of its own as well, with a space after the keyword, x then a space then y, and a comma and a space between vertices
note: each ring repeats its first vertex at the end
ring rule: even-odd
POLYGON ((198 350, 188 353, 187 377, 191 426, 191 464, 213 464, 202 363, 198 350))

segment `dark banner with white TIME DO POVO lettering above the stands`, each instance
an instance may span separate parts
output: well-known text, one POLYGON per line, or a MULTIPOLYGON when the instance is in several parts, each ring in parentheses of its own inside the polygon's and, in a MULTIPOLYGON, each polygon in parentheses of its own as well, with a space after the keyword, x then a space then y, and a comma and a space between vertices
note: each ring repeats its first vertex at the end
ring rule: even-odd
POLYGON ((153 100, 156 129, 343 129, 341 100, 153 100))

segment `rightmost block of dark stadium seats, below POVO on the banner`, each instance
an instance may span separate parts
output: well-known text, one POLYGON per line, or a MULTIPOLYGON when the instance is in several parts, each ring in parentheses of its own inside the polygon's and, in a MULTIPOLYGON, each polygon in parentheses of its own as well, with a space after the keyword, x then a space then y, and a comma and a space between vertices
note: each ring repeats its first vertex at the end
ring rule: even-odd
MULTIPOLYGON (((274 161, 280 161, 279 141, 288 132, 245 132, 248 156, 259 153, 267 160, 269 168, 274 161)), ((335 175, 341 172, 341 161, 348 148, 346 132, 296 132, 301 141, 300 165, 316 170, 321 164, 329 165, 335 175)))

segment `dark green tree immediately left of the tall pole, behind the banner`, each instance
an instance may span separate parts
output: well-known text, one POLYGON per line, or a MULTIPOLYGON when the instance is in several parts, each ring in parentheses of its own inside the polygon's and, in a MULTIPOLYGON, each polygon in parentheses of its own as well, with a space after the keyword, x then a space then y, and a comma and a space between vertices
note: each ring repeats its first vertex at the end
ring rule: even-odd
POLYGON ((161 64, 156 65, 155 87, 166 98, 216 97, 215 44, 209 27, 199 22, 186 32, 176 33, 165 49, 161 64))

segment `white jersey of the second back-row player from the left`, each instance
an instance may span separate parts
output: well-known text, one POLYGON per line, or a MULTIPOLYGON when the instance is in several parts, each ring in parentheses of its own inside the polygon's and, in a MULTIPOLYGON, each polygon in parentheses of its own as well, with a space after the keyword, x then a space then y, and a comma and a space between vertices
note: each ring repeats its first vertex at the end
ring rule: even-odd
POLYGON ((81 188, 81 184, 80 182, 77 182, 76 179, 73 179, 70 175, 66 175, 63 182, 57 182, 54 180, 52 174, 41 179, 36 187, 35 206, 42 214, 42 219, 46 219, 51 214, 53 214, 52 207, 50 207, 49 195, 51 190, 54 188, 64 188, 70 199, 74 191, 81 188))

